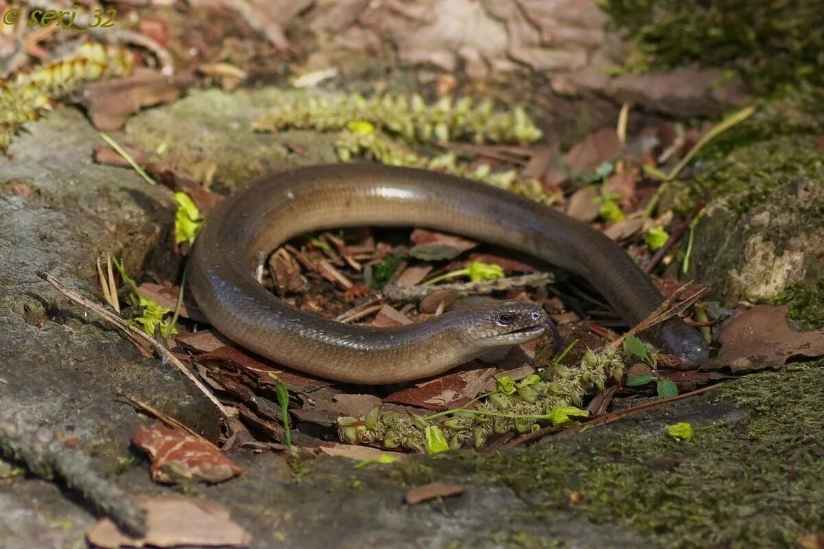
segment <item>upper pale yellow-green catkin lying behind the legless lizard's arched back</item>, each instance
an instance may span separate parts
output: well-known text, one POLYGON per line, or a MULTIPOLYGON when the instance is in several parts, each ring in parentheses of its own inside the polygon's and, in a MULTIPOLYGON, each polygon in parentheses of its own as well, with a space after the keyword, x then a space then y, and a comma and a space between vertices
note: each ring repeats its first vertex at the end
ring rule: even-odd
POLYGON ((471 139, 477 143, 531 143, 541 130, 522 107, 496 111, 492 100, 475 104, 469 97, 442 97, 427 104, 414 95, 353 94, 331 98, 312 96, 279 105, 255 122, 255 129, 277 132, 284 128, 338 131, 353 121, 368 121, 376 128, 396 133, 407 142, 447 142, 471 139))

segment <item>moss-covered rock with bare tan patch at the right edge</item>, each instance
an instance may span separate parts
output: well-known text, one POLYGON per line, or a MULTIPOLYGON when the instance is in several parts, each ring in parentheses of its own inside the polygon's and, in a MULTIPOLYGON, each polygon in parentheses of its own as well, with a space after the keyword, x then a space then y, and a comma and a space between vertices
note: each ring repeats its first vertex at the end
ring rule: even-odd
POLYGON ((699 161, 687 202, 706 192, 709 205, 690 275, 715 298, 786 303, 794 317, 824 322, 822 308, 808 306, 824 277, 820 106, 810 95, 765 103, 699 161))

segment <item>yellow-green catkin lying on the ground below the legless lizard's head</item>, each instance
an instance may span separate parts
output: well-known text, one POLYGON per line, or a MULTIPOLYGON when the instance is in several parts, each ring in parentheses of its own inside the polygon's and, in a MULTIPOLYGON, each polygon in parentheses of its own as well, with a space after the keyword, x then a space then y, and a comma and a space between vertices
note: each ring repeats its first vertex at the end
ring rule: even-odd
POLYGON ((540 429, 541 423, 564 426, 573 416, 585 415, 578 410, 583 397, 602 390, 608 379, 620 379, 624 358, 615 347, 586 351, 574 367, 550 364, 542 375, 529 375, 520 381, 506 376, 497 388, 477 406, 454 410, 448 414, 414 416, 397 412, 382 413, 373 408, 363 418, 341 417, 338 433, 349 444, 376 444, 386 449, 405 448, 432 452, 428 432, 437 430, 448 449, 471 443, 475 448, 490 435, 524 434, 540 429))

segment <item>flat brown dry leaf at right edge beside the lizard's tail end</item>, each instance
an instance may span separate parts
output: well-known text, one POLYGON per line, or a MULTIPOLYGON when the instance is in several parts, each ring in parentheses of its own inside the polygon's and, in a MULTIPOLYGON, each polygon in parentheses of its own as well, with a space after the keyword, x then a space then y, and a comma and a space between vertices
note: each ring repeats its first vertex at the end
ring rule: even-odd
POLYGON ((733 314, 719 330, 719 356, 701 370, 729 367, 734 373, 780 368, 793 358, 824 356, 824 328, 794 332, 787 308, 756 305, 733 314))

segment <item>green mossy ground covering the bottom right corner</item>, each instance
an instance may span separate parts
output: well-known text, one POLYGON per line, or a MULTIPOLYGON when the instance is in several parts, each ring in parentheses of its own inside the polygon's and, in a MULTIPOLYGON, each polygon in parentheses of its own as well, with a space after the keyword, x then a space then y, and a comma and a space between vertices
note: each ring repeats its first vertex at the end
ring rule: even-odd
POLYGON ((531 512, 632 528, 648 547, 793 547, 824 528, 822 365, 726 384, 714 400, 740 415, 696 421, 688 441, 663 430, 680 420, 660 415, 648 432, 619 423, 517 451, 449 454, 437 467, 410 460, 397 471, 410 483, 441 478, 436 469, 503 482, 531 512))

